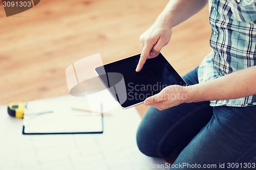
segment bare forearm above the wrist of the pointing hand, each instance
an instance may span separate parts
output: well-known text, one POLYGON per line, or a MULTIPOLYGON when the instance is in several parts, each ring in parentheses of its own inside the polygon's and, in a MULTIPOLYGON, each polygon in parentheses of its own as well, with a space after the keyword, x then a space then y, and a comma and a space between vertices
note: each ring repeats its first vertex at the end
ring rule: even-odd
POLYGON ((173 28, 200 11, 208 0, 170 0, 158 16, 157 22, 163 22, 173 28))

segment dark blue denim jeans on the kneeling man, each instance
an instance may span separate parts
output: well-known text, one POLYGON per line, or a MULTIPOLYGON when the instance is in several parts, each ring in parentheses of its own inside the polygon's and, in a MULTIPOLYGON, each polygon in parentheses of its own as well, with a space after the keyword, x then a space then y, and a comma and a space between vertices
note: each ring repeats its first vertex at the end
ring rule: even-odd
MULTIPOLYGON (((183 79, 197 84, 197 68, 183 79)), ((151 107, 137 144, 147 156, 179 155, 170 169, 256 169, 256 106, 211 107, 207 101, 162 111, 151 107)))

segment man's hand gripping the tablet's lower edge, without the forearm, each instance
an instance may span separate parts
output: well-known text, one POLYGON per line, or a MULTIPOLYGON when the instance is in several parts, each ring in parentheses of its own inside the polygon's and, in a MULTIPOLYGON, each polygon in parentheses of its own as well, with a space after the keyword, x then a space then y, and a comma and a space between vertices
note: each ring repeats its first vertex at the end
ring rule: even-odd
POLYGON ((159 93, 147 98, 144 104, 164 110, 182 103, 187 103, 189 101, 187 89, 187 87, 179 85, 167 86, 159 93))

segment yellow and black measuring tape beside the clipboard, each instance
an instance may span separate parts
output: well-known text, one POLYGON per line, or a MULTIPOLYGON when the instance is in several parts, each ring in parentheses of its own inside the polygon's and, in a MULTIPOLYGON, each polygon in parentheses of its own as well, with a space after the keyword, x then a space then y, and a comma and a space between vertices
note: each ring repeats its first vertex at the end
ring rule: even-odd
POLYGON ((19 102, 10 103, 8 105, 8 114, 12 117, 23 118, 24 104, 19 102))

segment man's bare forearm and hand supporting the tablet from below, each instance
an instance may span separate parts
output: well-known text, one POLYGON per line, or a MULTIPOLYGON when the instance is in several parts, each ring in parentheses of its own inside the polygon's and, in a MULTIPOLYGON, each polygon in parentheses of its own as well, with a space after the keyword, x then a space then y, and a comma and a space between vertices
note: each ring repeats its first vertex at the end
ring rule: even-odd
POLYGON ((256 65, 204 83, 167 86, 144 104, 164 110, 182 103, 244 98, 256 95, 255 78, 256 65))

